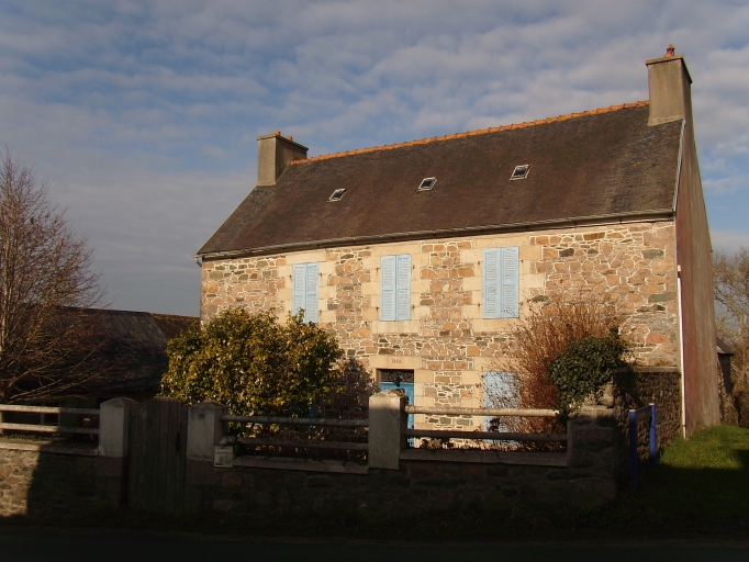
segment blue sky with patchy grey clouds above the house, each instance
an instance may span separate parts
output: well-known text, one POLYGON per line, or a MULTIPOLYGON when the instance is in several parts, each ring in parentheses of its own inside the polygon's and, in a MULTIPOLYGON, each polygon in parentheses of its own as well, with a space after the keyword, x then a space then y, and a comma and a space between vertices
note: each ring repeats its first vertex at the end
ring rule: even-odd
POLYGON ((716 249, 749 246, 749 2, 3 0, 0 143, 88 237, 114 308, 198 314, 192 255, 258 135, 310 156, 645 100, 694 80, 716 249))

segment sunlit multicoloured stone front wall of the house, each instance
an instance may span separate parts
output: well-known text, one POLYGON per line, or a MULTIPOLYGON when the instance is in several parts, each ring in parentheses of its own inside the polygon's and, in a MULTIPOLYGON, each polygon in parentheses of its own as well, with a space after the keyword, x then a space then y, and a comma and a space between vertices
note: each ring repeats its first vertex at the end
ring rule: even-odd
MULTIPOLYGON (((674 224, 671 221, 559 228, 275 256, 205 259, 201 317, 242 306, 291 308, 292 268, 320 263, 320 324, 368 370, 414 371, 415 403, 483 405, 482 374, 512 358, 514 318, 482 315, 482 250, 518 247, 521 317, 532 301, 592 293, 627 315, 624 333, 644 366, 680 362, 674 224), (411 319, 381 322, 382 256, 411 255, 411 319)), ((416 417, 416 427, 473 425, 470 418, 416 417)))

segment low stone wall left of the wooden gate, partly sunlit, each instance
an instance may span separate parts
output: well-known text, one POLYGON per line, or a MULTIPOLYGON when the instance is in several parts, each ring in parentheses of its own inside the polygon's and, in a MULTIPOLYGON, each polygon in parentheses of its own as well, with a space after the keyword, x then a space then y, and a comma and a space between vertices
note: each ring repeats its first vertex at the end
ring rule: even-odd
POLYGON ((119 507, 122 479, 102 470, 107 460, 91 448, 3 439, 0 516, 72 519, 119 507), (63 452, 53 452, 56 449, 63 452))

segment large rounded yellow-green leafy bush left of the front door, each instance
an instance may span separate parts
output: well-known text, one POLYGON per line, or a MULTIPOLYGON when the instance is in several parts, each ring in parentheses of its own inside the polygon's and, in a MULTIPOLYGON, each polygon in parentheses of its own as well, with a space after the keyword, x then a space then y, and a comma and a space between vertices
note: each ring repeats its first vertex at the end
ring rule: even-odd
POLYGON ((161 393, 188 404, 216 401, 237 415, 303 416, 326 400, 343 350, 303 313, 233 308, 169 341, 161 393))

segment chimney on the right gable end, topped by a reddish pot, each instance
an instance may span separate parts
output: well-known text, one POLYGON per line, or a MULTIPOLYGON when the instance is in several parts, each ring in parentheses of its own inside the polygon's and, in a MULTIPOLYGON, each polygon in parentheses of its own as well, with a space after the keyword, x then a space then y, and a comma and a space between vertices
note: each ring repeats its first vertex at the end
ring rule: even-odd
POLYGON ((648 126, 685 119, 692 123, 692 78, 684 57, 669 45, 666 55, 645 61, 648 67, 650 117, 648 126))

